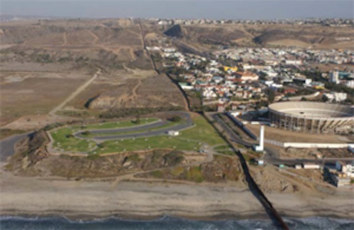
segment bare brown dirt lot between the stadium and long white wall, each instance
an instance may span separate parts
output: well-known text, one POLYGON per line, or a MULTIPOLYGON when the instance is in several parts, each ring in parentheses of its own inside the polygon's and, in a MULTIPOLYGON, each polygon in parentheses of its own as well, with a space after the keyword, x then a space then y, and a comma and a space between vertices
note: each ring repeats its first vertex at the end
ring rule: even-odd
MULTIPOLYGON (((259 125, 246 125, 253 133, 259 135, 259 125)), ((269 126, 265 127, 265 138, 275 140, 278 142, 305 142, 305 143, 348 143, 351 142, 343 136, 338 135, 322 135, 322 134, 310 134, 300 132, 290 132, 286 130, 280 130, 269 126)))

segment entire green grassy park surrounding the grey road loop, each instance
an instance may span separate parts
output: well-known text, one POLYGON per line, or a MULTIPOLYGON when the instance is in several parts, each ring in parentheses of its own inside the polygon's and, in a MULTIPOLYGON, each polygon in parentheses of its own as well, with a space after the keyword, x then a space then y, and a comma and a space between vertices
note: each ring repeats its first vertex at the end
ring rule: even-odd
MULTIPOLYGON (((226 145, 219 133, 199 114, 192 114, 192 119, 195 124, 187 130, 180 132, 177 137, 169 137, 167 135, 153 136, 146 138, 130 138, 109 140, 100 144, 96 144, 91 140, 84 140, 73 137, 73 134, 82 131, 80 127, 65 127, 56 131, 52 131, 51 135, 54 139, 53 147, 64 151, 83 152, 89 154, 107 154, 107 153, 120 153, 124 151, 139 151, 148 149, 177 149, 184 151, 198 151, 202 144, 210 146, 226 145), (95 148, 97 146, 97 148, 95 148)), ((140 122, 139 125, 148 124, 157 121, 157 119, 146 119, 145 123, 140 122)), ((183 122, 183 121, 181 121, 183 122)), ((169 122, 164 126, 154 128, 160 129, 165 127, 173 127, 176 122, 169 122)), ((121 121, 118 123, 103 123, 101 125, 86 126, 86 130, 102 129, 102 128, 120 128, 132 127, 136 125, 132 121, 121 121)), ((136 133, 142 130, 136 131, 136 133)), ((117 133, 126 134, 126 133, 117 133)), ((110 133, 109 135, 112 135, 110 133)), ((87 136, 85 136, 87 137, 87 136)))

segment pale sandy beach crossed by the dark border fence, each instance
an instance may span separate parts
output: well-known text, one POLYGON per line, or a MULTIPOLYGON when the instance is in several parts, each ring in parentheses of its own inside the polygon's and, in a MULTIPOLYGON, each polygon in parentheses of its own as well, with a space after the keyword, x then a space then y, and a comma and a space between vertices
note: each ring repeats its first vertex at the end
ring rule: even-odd
MULTIPOLYGON (((119 216, 142 219, 164 215, 192 219, 267 218, 247 188, 165 182, 85 182, 17 177, 1 170, 0 215, 55 215, 68 218, 119 216)), ((350 196, 311 197, 267 194, 289 217, 354 216, 350 196)))

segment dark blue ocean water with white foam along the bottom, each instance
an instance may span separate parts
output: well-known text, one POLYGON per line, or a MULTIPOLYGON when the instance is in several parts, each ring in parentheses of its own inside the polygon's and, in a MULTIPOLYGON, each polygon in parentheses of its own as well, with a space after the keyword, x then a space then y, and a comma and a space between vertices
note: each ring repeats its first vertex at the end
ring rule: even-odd
MULTIPOLYGON (((354 220, 332 218, 287 218, 292 230, 353 230, 354 220)), ((193 221, 163 217, 150 221, 108 218, 72 221, 65 218, 0 217, 0 230, 274 230, 267 220, 193 221)))

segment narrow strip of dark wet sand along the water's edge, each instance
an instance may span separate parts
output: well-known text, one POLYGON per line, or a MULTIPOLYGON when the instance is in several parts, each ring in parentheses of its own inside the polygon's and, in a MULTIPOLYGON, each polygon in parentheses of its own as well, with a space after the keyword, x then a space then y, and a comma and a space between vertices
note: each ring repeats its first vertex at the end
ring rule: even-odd
MULTIPOLYGON (((177 219, 185 219, 190 221, 207 221, 207 222, 218 222, 218 221, 229 221, 229 220, 270 220, 268 215, 265 213, 244 213, 244 214, 235 214, 231 212, 223 212, 223 211, 215 211, 213 215, 186 215, 182 214, 184 211, 174 211, 169 212, 169 214, 124 214, 124 211, 116 211, 113 213, 102 213, 102 214, 91 214, 91 213, 84 213, 84 212, 72 212, 72 211, 45 211, 39 213, 29 213, 23 212, 18 210, 12 211, 0 211, 0 219, 1 217, 9 217, 9 218, 25 218, 25 219, 32 219, 32 218, 42 218, 42 219, 52 219, 52 218, 63 218, 73 222, 93 222, 96 220, 107 220, 107 219, 118 219, 118 220, 126 220, 126 221, 155 221, 161 220, 166 217, 170 218, 177 218, 177 219), (173 214, 174 213, 174 214, 173 214), (179 214, 178 214, 179 213, 179 214)), ((299 211, 294 212, 293 210, 279 210, 279 213, 282 218, 284 219, 306 219, 306 218, 330 218, 330 219, 345 219, 354 221, 354 217, 350 215, 338 215, 336 211, 314 211, 314 210, 306 210, 306 211, 299 211), (285 213, 285 214, 284 214, 285 213), (297 214, 303 213, 303 214, 297 214), (326 214, 324 214, 326 213, 326 214), (336 214, 335 214, 336 213, 336 214)))

